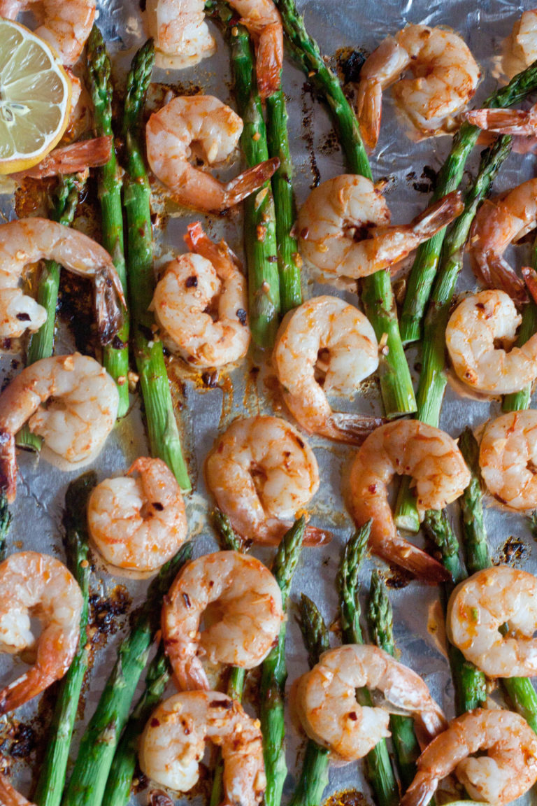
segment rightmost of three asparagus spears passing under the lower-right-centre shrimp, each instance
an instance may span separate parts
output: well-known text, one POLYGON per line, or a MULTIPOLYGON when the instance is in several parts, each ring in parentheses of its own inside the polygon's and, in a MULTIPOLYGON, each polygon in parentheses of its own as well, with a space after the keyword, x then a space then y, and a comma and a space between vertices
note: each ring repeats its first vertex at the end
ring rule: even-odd
MULTIPOLYGON (((394 655, 394 617, 386 584, 376 570, 371 574, 367 622, 373 643, 380 646, 382 650, 390 655, 394 655)), ((403 789, 407 789, 414 780, 415 762, 420 753, 412 718, 392 713, 390 715, 390 731, 399 778, 403 784, 403 789)))

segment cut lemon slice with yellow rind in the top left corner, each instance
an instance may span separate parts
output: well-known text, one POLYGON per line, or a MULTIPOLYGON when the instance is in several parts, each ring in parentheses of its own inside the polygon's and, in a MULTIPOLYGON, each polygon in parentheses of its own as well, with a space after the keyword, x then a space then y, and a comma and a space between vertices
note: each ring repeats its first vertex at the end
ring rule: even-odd
POLYGON ((67 128, 71 81, 49 44, 0 17, 0 174, 31 168, 67 128))

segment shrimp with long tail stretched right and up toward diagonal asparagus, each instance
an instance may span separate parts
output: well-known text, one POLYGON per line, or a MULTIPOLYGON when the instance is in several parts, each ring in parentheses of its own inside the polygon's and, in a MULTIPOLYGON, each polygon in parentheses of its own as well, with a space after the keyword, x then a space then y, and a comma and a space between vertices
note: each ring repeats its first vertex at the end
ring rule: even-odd
POLYGON ((343 174, 314 188, 299 212, 303 257, 328 275, 365 277, 388 268, 461 213, 449 193, 404 226, 390 226, 381 191, 366 177, 343 174))

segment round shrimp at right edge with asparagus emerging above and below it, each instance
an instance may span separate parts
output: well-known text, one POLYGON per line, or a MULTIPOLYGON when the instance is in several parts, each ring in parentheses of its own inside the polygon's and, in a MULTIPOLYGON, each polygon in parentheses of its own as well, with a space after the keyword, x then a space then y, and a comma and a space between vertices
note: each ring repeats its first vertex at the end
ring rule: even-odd
POLYGON ((537 674, 537 580, 509 566, 461 582, 448 602, 448 637, 489 677, 537 674), (500 633, 506 624, 508 632, 500 633))

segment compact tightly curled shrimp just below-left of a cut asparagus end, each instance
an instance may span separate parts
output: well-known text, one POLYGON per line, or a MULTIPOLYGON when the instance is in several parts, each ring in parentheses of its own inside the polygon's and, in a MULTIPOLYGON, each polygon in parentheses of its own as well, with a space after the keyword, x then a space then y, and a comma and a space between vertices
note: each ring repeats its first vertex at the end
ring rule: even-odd
POLYGON ((93 488, 88 527, 108 563, 155 571, 187 537, 187 516, 176 477, 162 459, 136 459, 126 476, 105 479, 93 488), (134 479, 133 473, 140 475, 134 479))

